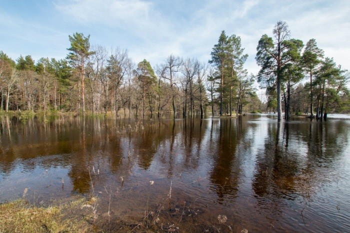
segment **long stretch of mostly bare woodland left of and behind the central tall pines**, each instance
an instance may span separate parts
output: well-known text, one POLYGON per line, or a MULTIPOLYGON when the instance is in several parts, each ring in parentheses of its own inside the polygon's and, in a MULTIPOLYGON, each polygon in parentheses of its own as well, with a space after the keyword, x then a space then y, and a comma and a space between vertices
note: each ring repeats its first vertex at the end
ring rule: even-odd
MULTIPOLYGON (((238 39, 240 43, 239 37, 232 39, 238 39)), ((86 108, 92 115, 111 112, 115 117, 120 114, 124 117, 160 117, 162 113, 172 112, 174 118, 179 113, 183 118, 193 118, 196 115, 204 117, 210 103, 212 114, 216 112, 217 91, 223 87, 218 86, 217 70, 207 63, 170 54, 152 68, 145 59, 135 64, 126 49, 107 51, 100 45, 90 46, 89 36, 82 33, 69 36, 69 41, 66 58, 58 61, 40 58, 34 62, 30 55, 14 61, 1 51, 1 109, 44 113, 47 110, 77 111, 84 116, 86 108)), ((231 50, 231 54, 233 52, 231 50)), ((241 59, 233 55, 232 64, 235 59, 241 59)), ((229 70, 226 63, 224 70, 229 70)), ((234 63, 230 72, 230 79, 224 80, 224 88, 230 85, 231 112, 232 99, 238 93, 233 92, 233 81, 243 80, 246 70, 242 69, 242 64, 234 63)), ((225 93, 221 100, 228 98, 226 89, 221 91, 225 93)), ((241 93, 239 97, 240 108, 243 95, 241 93)))

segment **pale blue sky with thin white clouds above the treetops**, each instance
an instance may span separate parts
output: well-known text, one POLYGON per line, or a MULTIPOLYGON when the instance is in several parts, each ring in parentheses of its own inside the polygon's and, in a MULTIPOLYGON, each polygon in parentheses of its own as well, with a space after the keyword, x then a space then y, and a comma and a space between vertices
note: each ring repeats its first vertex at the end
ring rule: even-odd
POLYGON ((1 0, 0 50, 65 58, 68 35, 90 34, 90 43, 126 48, 152 66, 169 54, 208 61, 221 30, 241 37, 256 74, 256 45, 272 36, 278 20, 304 44, 315 38, 325 56, 350 70, 349 0, 1 0))

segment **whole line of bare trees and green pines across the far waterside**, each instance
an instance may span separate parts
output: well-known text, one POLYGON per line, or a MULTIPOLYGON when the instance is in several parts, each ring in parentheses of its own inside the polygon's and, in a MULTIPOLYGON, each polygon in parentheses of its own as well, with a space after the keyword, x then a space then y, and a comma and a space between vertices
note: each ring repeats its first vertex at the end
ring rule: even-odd
POLYGON ((0 51, 0 107, 5 111, 76 112, 82 116, 203 118, 244 112, 276 112, 321 118, 347 113, 347 70, 324 57, 315 39, 291 38, 285 22, 257 41, 258 74, 248 74, 248 57, 236 35, 222 31, 208 62, 168 55, 161 64, 137 64, 127 49, 90 45, 89 35, 69 35, 65 59, 30 55, 16 60, 0 51), (261 103, 254 81, 265 90, 261 103), (86 112, 86 113, 85 113, 86 112))

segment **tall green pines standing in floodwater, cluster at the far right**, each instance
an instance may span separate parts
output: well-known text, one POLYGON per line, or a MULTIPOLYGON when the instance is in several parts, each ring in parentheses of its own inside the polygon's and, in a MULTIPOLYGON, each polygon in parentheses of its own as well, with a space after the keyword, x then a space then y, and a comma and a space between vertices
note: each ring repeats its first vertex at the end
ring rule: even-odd
POLYGON ((301 40, 290 38, 286 22, 278 21, 272 32, 273 38, 261 36, 255 59, 261 67, 257 81, 266 88, 267 108, 277 109, 277 119, 282 119, 282 102, 286 119, 292 111, 318 119, 326 117, 327 111, 348 110, 349 73, 332 58, 323 59, 315 39, 304 47, 301 40), (301 84, 305 77, 309 82, 301 84))

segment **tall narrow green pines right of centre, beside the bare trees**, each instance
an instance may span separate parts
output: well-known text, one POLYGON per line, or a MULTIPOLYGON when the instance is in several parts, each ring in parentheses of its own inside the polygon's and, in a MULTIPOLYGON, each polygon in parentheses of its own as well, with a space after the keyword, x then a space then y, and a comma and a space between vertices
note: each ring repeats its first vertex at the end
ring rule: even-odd
POLYGON ((213 70, 210 72, 209 81, 213 84, 218 81, 216 92, 219 93, 220 116, 223 115, 224 106, 225 113, 231 116, 232 105, 235 103, 235 112, 238 115, 248 99, 258 99, 253 88, 254 79, 252 75, 248 76, 247 70, 243 68, 248 57, 243 51, 240 37, 234 34, 226 36, 225 31, 221 32, 217 44, 212 48, 209 63, 213 70))

